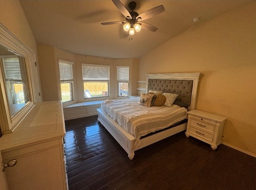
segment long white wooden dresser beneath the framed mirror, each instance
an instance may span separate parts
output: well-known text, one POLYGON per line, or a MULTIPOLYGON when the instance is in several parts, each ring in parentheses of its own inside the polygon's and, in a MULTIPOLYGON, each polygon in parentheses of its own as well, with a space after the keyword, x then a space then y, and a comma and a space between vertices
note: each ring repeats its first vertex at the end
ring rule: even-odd
POLYGON ((66 190, 65 125, 61 101, 35 103, 14 132, 0 138, 9 190, 66 190))

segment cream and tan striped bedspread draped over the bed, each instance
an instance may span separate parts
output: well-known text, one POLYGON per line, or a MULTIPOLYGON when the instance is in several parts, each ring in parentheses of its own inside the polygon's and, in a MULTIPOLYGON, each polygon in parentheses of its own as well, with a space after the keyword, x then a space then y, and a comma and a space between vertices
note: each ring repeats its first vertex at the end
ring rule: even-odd
POLYGON ((101 109, 122 128, 135 136, 134 150, 140 146, 140 137, 161 130, 187 117, 186 108, 172 105, 146 107, 137 104, 139 98, 105 100, 101 109))

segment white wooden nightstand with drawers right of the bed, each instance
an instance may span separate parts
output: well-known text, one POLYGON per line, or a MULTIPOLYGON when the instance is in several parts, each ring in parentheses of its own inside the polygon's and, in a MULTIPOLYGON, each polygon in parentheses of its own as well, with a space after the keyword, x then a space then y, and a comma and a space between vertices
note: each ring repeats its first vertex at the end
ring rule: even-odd
POLYGON ((188 112, 186 137, 192 136, 202 140, 210 144, 215 150, 222 142, 222 132, 226 119, 224 116, 191 110, 188 112))

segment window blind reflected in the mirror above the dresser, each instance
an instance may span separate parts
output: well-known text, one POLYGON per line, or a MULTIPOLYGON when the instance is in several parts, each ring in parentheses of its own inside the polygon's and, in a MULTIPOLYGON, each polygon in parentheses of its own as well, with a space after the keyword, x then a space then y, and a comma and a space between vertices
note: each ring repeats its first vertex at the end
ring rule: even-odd
POLYGON ((19 58, 2 58, 6 79, 21 80, 19 58))

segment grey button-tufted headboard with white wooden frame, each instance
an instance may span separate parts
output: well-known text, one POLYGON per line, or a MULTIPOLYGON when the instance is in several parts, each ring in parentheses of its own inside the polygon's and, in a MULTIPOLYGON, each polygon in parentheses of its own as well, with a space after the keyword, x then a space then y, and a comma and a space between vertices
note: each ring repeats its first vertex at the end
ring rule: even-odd
POLYGON ((160 90, 179 94, 180 100, 189 105, 188 110, 194 110, 199 77, 200 73, 146 74, 146 92, 160 90))

